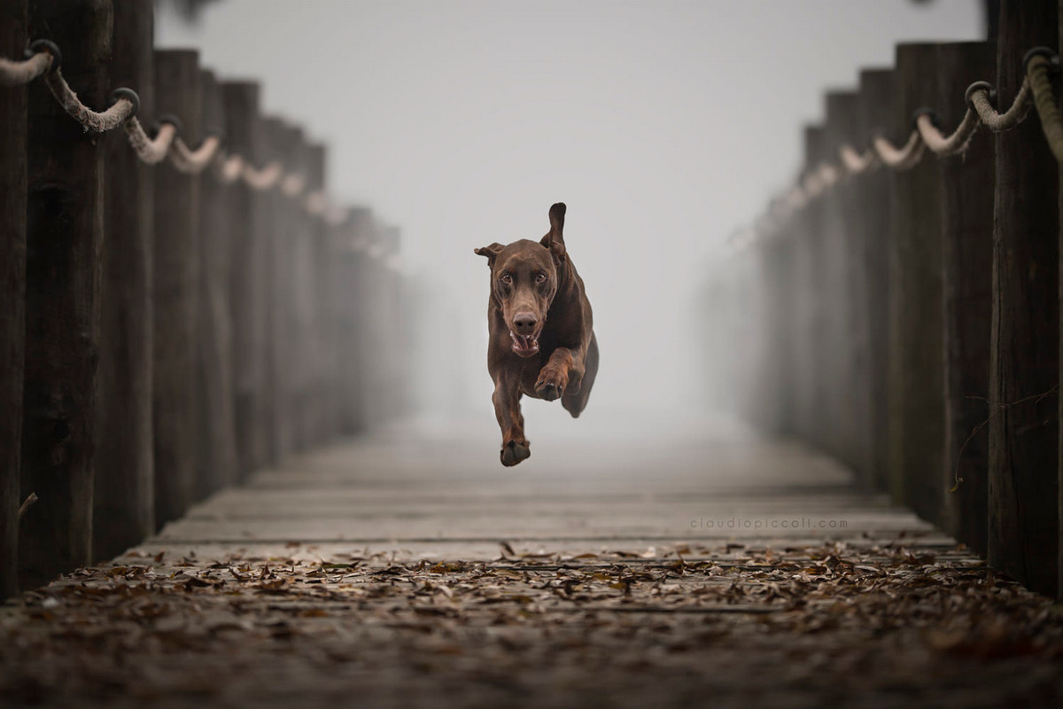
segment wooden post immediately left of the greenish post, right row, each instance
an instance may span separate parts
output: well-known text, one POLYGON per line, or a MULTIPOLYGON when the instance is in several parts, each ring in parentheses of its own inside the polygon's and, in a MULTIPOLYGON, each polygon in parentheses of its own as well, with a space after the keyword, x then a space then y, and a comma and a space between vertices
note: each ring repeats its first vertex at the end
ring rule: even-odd
MULTIPOLYGON (((896 79, 892 69, 865 69, 860 72, 857 106, 858 150, 870 147, 870 139, 881 129, 892 130, 898 112, 893 100, 896 79)), ((866 311, 868 417, 862 422, 861 437, 870 444, 868 477, 872 487, 890 490, 889 478, 889 342, 890 342, 890 254, 893 251, 892 190, 889 169, 880 168, 860 176, 854 184, 855 209, 860 215, 854 225, 854 249, 860 251, 865 280, 859 298, 866 311)))

